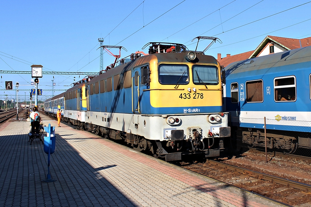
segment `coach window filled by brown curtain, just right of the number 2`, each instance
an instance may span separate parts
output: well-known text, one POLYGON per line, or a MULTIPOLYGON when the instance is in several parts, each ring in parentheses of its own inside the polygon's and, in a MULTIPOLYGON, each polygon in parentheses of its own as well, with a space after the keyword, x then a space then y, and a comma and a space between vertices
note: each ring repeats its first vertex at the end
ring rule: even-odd
POLYGON ((262 80, 252 80, 245 83, 246 102, 263 101, 263 84, 262 80))

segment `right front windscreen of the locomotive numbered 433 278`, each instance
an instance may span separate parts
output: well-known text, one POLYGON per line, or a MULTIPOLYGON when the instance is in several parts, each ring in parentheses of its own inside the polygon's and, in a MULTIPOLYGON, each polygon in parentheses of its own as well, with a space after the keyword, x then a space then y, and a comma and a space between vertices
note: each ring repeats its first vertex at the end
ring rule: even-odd
POLYGON ((193 83, 196 85, 217 85, 218 70, 211 65, 193 65, 193 83))

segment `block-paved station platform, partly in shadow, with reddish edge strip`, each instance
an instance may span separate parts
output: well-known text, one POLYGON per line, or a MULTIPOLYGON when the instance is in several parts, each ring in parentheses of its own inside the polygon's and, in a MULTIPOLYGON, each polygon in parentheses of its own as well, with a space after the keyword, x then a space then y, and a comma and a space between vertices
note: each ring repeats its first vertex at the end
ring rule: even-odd
MULTIPOLYGON (((42 115, 44 125, 57 121, 42 115)), ((92 133, 56 127, 50 174, 30 122, 0 126, 0 206, 281 206, 92 133)), ((44 133, 45 135, 45 133, 44 133)), ((44 136, 43 135, 43 136, 44 136)))

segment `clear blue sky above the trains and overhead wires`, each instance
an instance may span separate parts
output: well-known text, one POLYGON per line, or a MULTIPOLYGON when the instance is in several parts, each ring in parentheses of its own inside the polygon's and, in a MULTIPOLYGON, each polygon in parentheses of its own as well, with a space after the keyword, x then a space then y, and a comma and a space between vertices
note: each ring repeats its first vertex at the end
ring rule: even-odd
MULTIPOLYGON (((30 71, 30 65, 36 64, 43 65, 43 71, 99 72, 98 38, 104 38, 104 45, 125 47, 128 52, 121 51, 121 57, 125 57, 141 51, 149 42, 182 43, 194 50, 193 38, 214 36, 222 44, 214 43, 205 54, 214 57, 217 53, 222 57, 235 55, 254 50, 267 35, 310 37, 311 3, 307 2, 3 0, 0 7, 0 70, 30 71), (304 5, 299 6, 301 4, 304 5)), ((209 40, 200 42, 198 50, 202 51, 209 43, 209 40)), ((118 54, 118 49, 111 52, 118 54)), ((104 53, 103 61, 106 67, 114 62, 114 57, 104 53)), ((0 75, 0 89, 5 88, 5 81, 19 82, 19 89, 30 91, 33 88, 30 74, 0 75)), ((67 89, 68 85, 83 78, 75 77, 54 75, 54 89, 67 89)), ((52 79, 53 75, 46 74, 40 79, 43 95, 52 95, 51 91, 44 91, 52 89, 52 79)), ((20 91, 21 101, 25 100, 25 92, 29 99, 28 91, 20 91)), ((54 95, 58 93, 61 91, 55 91, 54 95)), ((3 100, 6 94, 15 98, 13 90, 0 91, 0 99, 3 100)))

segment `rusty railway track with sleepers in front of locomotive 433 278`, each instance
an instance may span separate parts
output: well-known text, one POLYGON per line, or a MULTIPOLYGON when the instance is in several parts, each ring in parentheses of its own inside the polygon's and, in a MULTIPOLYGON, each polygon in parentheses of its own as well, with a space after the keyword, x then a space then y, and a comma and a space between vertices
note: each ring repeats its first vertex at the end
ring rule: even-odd
POLYGON ((182 167, 221 182, 295 206, 311 206, 311 185, 225 164, 215 160, 182 167))

